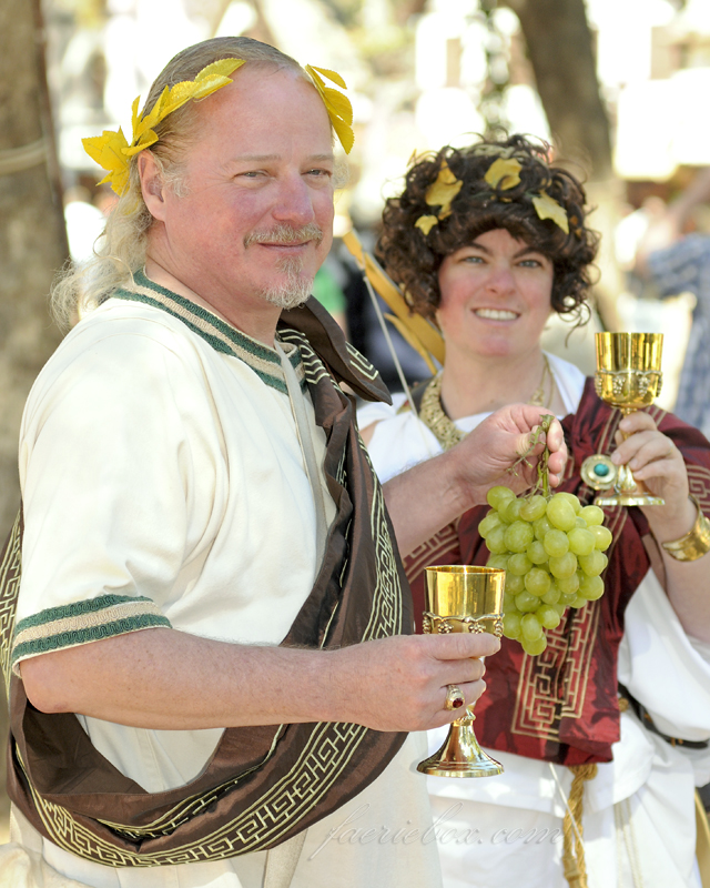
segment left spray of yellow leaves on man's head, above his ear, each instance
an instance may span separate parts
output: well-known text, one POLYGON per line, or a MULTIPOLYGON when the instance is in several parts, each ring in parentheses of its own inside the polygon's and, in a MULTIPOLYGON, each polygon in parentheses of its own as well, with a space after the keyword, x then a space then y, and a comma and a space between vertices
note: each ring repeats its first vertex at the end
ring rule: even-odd
POLYGON ((243 59, 221 59, 212 62, 203 68, 194 80, 183 80, 181 83, 175 83, 174 87, 165 87, 148 114, 138 113, 141 97, 136 97, 132 109, 133 134, 130 144, 120 128, 118 132, 104 130, 102 135, 82 139, 87 154, 95 160, 99 167, 109 171, 109 174, 99 184, 111 182, 111 188, 119 196, 125 194, 129 186, 131 158, 158 141, 158 134, 153 127, 156 127, 191 99, 204 99, 230 84, 232 82, 230 74, 233 74, 243 64, 243 59))

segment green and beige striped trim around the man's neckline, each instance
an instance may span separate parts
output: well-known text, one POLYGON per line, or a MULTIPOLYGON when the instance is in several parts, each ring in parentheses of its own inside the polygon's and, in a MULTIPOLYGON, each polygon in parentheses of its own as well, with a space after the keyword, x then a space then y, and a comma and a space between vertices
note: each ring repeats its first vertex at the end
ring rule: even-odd
MULTIPOLYGON (((237 357, 247 364, 263 383, 282 394, 288 394, 281 359, 275 349, 270 349, 262 342, 253 340, 201 305, 195 305, 194 302, 160 286, 149 280, 144 272, 136 271, 133 274, 133 284, 119 287, 113 295, 115 299, 142 302, 154 309, 162 309, 182 321, 215 351, 237 357)), ((305 370, 301 353, 292 344, 284 343, 284 352, 296 372, 298 383, 302 389, 305 389, 305 370)))

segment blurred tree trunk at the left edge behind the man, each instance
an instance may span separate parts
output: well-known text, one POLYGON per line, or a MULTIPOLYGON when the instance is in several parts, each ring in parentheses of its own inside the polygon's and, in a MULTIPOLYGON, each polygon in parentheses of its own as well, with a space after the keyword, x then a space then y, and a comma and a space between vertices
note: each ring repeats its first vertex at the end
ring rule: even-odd
POLYGON ((47 294, 69 251, 39 0, 0 0, 0 536, 20 504, 18 432, 60 336, 47 294))

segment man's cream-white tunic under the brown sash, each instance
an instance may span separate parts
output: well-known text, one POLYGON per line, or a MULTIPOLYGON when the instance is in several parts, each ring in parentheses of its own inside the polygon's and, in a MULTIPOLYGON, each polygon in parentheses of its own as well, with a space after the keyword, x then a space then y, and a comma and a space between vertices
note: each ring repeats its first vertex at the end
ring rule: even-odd
MULTIPOLYGON (((304 400, 329 522, 325 433, 304 400)), ((18 620, 105 594, 143 596, 175 629, 272 645, 311 592, 314 498, 288 395, 159 307, 112 299, 67 336, 30 394, 20 472, 18 620)), ((151 793, 192 780, 222 734, 80 722, 151 793)), ((308 830, 293 888, 440 884, 426 785, 413 770, 424 755, 410 737, 379 778, 308 830)), ((265 852, 114 869, 42 839, 18 811, 11 829, 2 888, 262 885, 265 852)))

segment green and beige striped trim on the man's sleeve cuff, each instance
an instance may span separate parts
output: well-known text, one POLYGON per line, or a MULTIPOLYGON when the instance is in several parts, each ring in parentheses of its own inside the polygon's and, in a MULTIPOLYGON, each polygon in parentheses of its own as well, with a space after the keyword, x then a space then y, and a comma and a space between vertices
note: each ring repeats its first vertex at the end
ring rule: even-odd
POLYGON ((49 607, 18 623, 12 639, 12 669, 17 674, 21 659, 38 654, 158 626, 172 628, 158 605, 143 596, 100 595, 49 607))

